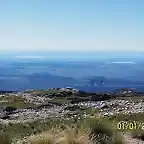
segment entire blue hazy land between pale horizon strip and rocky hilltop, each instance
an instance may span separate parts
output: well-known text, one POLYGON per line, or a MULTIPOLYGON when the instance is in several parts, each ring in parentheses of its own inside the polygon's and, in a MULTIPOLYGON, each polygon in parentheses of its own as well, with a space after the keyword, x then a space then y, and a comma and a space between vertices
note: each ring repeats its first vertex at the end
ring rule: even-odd
POLYGON ((143 89, 143 61, 142 57, 85 61, 2 59, 0 90, 66 86, 88 91, 108 91, 119 87, 143 89))

